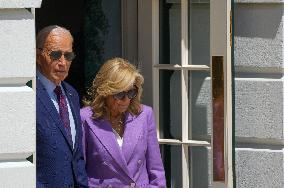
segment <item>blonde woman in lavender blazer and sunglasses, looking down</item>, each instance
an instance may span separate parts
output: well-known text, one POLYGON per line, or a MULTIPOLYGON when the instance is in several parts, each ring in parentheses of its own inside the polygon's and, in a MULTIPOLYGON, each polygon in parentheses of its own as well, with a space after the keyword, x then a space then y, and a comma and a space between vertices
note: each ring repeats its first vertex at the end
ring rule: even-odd
POLYGON ((151 107, 140 104, 143 77, 121 58, 107 61, 81 109, 89 187, 166 187, 151 107))

